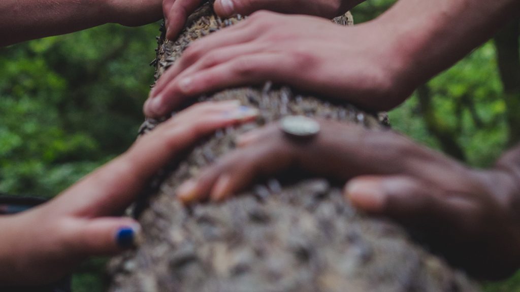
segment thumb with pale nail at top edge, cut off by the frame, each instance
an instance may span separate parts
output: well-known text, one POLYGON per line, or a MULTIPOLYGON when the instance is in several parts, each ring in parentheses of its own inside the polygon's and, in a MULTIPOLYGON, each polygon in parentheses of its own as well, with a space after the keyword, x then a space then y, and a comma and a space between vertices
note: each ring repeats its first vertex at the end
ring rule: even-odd
POLYGON ((280 11, 282 3, 278 0, 216 0, 214 10, 223 18, 236 14, 250 15, 256 10, 280 11))

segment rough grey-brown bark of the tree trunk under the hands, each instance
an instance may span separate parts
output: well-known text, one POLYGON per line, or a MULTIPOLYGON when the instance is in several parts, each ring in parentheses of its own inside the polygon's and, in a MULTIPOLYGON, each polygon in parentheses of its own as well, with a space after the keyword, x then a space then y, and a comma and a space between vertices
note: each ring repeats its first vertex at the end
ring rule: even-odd
MULTIPOLYGON (((160 38, 155 77, 191 41, 236 21, 215 18, 205 4, 190 17, 178 41, 160 38)), ((347 18, 336 22, 346 24, 347 18)), ((269 83, 201 98, 206 99, 238 99, 259 108, 261 117, 217 131, 151 183, 136 206, 144 242, 112 260, 110 291, 478 290, 462 273, 412 243, 398 225, 358 213, 344 200, 341 185, 326 179, 272 178, 222 204, 182 206, 175 198, 180 182, 229 152, 237 134, 283 115, 381 127, 378 117, 351 105, 334 105, 269 83)), ((142 132, 159 122, 147 120, 142 132)))

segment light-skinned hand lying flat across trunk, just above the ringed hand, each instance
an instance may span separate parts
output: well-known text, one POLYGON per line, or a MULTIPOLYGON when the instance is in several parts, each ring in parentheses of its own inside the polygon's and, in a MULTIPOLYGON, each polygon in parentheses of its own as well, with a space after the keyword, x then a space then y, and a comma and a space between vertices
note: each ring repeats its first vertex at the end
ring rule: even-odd
POLYGON ((256 12, 190 45, 155 85, 144 111, 161 116, 188 97, 267 80, 391 109, 415 84, 404 78, 410 70, 387 30, 376 21, 346 28, 316 17, 256 12))

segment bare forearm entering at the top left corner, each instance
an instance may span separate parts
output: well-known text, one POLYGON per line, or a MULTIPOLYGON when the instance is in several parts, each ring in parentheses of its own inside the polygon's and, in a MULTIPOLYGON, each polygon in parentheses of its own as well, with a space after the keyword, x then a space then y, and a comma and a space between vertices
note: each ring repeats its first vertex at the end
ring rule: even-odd
POLYGON ((0 47, 111 21, 106 0, 0 1, 0 47))

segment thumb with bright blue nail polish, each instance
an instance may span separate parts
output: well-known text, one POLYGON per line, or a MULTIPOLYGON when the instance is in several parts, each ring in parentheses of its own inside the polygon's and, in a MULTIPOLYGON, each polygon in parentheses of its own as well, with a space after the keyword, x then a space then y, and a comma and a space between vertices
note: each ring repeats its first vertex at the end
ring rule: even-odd
POLYGON ((113 255, 139 244, 141 228, 131 218, 79 219, 67 232, 72 254, 113 255))

